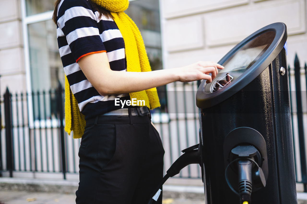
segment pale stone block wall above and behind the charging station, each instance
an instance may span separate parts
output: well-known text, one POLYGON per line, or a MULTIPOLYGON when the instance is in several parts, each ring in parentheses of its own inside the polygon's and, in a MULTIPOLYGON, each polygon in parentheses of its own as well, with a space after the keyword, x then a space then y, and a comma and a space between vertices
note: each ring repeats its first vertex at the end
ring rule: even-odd
POLYGON ((288 31, 288 62, 295 53, 307 60, 305 0, 163 0, 164 68, 198 60, 219 61, 258 29, 283 22, 288 31))

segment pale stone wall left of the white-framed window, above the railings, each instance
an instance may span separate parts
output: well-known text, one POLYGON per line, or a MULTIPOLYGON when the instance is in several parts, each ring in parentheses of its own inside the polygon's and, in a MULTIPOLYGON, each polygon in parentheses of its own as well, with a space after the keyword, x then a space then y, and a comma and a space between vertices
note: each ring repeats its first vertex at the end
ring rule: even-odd
POLYGON ((26 90, 20 0, 0 1, 0 93, 26 90))

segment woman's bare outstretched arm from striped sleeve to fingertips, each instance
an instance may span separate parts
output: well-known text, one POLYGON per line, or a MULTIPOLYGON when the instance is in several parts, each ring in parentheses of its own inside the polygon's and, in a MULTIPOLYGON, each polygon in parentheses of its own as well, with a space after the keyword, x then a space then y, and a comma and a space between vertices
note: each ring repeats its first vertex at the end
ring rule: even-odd
POLYGON ((78 64, 87 80, 103 96, 143 91, 174 81, 205 79, 211 82, 218 69, 224 68, 214 62, 199 61, 184 67, 150 72, 113 71, 105 52, 86 55, 79 59, 78 64))

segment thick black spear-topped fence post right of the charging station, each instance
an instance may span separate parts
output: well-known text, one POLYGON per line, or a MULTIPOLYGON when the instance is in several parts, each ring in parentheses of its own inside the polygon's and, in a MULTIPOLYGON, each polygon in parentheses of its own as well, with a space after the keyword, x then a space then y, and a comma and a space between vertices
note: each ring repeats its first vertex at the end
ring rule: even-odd
POLYGON ((305 139, 304 139, 304 123, 303 123, 303 108, 302 108, 302 96, 301 96, 301 66, 297 55, 294 59, 294 77, 295 77, 295 89, 296 89, 296 107, 297 107, 297 129, 298 140, 300 147, 301 158, 301 174, 302 183, 304 184, 304 192, 307 192, 307 167, 306 167, 306 154, 305 154, 305 139))

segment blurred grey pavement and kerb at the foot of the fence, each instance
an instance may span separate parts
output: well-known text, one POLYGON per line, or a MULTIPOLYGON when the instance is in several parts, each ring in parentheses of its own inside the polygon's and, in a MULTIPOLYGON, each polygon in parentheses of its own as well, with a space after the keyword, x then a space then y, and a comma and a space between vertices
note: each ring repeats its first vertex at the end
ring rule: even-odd
MULTIPOLYGON (((0 178, 0 204, 76 203, 78 181, 0 178), (1 203, 2 202, 2 203, 1 203)), ((297 193, 298 204, 307 204, 307 193, 297 193)), ((162 204, 205 204, 203 186, 163 185, 162 204)))

